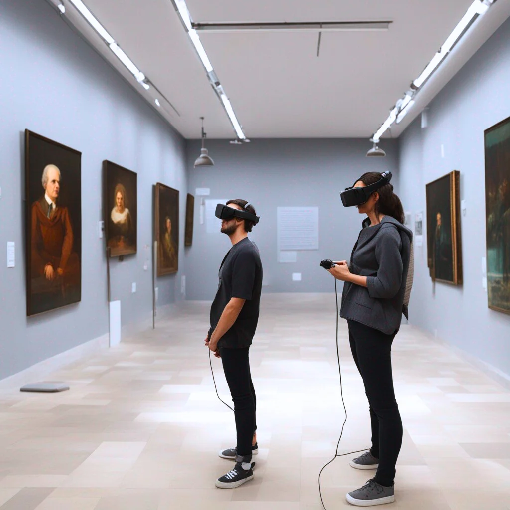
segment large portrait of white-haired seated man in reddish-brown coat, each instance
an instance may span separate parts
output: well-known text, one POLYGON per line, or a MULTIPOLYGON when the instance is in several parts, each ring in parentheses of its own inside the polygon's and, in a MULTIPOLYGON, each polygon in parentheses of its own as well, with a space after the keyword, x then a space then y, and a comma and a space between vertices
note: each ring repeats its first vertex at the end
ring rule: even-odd
POLYGON ((25 130, 27 316, 82 296, 82 153, 25 130))

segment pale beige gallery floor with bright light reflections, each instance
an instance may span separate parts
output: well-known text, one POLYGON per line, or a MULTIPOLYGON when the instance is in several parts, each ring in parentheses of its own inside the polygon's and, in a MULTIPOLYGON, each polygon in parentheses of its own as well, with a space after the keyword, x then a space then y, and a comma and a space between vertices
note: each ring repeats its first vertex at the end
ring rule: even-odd
MULTIPOLYGON (((258 397, 255 478, 214 487, 231 461, 234 417, 214 393, 207 303, 187 302, 155 330, 59 370, 69 392, 0 393, 1 510, 319 510, 320 468, 343 411, 332 295, 266 295, 250 349, 258 397)), ((368 404, 340 323, 347 424, 340 452, 369 446, 368 404)), ((510 509, 510 392, 409 325, 393 347, 404 441, 392 508, 510 509)), ((221 363, 220 396, 230 403, 221 363)), ((327 510, 371 471, 337 458, 327 510)))

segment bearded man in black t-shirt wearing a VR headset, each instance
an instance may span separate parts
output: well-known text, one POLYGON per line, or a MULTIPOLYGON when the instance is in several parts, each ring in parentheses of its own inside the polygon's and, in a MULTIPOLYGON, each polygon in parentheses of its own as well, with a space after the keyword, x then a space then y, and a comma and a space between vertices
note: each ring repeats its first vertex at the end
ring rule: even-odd
POLYGON ((219 270, 219 284, 211 305, 211 328, 206 345, 221 358, 223 371, 234 401, 237 445, 219 452, 236 462, 234 469, 219 477, 221 489, 239 487, 253 478, 252 453, 258 453, 257 397, 251 382, 248 350, 257 329, 262 294, 262 261, 259 248, 248 239, 251 227, 259 222, 246 200, 229 200, 218 205, 221 232, 232 248, 219 270))

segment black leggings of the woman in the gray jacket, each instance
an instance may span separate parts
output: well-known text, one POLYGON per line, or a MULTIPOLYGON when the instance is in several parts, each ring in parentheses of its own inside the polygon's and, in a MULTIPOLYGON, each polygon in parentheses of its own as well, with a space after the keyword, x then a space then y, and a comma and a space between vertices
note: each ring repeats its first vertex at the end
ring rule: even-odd
POLYGON ((385 335, 360 322, 347 323, 352 357, 368 398, 372 428, 370 452, 379 459, 375 481, 390 487, 395 482, 395 465, 402 446, 402 420, 391 368, 391 344, 396 332, 385 335))

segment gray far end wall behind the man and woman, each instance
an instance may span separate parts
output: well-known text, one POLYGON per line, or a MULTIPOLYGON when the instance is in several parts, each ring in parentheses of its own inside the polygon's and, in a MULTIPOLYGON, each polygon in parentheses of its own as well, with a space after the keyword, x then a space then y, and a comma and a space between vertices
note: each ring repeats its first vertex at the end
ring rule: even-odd
MULTIPOLYGON (((361 228, 362 217, 342 207, 339 193, 365 171, 391 170, 398 166, 398 145, 386 141, 386 158, 366 158, 368 140, 252 140, 231 145, 207 140, 215 166, 193 169, 200 143, 189 142, 188 189, 211 189, 213 198, 244 198, 261 216, 250 238, 261 249, 264 292, 331 292, 333 279, 319 267, 322 259, 348 259, 361 228), (278 206, 319 207, 319 250, 298 252, 297 263, 282 264, 277 258, 278 206), (292 273, 302 273, 293 282, 292 273)), ((394 177, 398 190, 398 175, 394 177)), ((200 224, 200 197, 195 197, 193 246, 186 249, 187 299, 212 299, 218 285, 217 271, 230 248, 228 238, 208 234, 200 224)), ((218 225, 219 228, 219 225, 218 225)))

